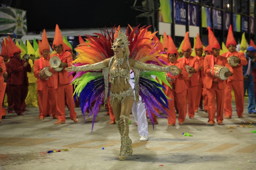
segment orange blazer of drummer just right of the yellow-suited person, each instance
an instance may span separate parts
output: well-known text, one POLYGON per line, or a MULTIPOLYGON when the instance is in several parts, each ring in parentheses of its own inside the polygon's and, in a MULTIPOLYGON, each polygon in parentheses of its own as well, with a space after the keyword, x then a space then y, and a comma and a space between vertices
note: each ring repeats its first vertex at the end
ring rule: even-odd
POLYGON ((55 84, 54 84, 54 74, 49 77, 48 80, 43 80, 39 77, 39 72, 47 67, 47 66, 50 66, 49 64, 49 60, 50 58, 48 57, 47 60, 45 62, 43 62, 43 57, 41 57, 40 59, 37 59, 34 61, 34 76, 37 78, 37 90, 43 90, 43 83, 47 83, 47 86, 48 87, 55 87, 55 84), (42 68, 40 68, 40 60, 41 60, 41 63, 42 63, 42 68))

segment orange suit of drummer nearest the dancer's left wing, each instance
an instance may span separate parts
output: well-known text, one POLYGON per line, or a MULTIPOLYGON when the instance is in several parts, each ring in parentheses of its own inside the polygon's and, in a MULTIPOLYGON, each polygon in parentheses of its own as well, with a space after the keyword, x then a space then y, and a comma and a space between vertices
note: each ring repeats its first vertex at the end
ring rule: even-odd
MULTIPOLYGON (((57 56, 61 59, 62 62, 66 62, 68 67, 71 66, 73 58, 72 54, 68 51, 61 52, 60 54, 55 53, 52 56, 57 56)), ((65 116, 65 96, 67 100, 67 105, 70 111, 70 119, 76 119, 76 112, 75 112, 75 105, 74 105, 74 98, 73 98, 73 88, 70 88, 70 82, 73 79, 73 76, 70 75, 65 68, 61 72, 55 72, 55 89, 56 89, 56 102, 58 108, 60 110, 60 114, 58 115, 58 119, 61 121, 66 120, 65 116)))

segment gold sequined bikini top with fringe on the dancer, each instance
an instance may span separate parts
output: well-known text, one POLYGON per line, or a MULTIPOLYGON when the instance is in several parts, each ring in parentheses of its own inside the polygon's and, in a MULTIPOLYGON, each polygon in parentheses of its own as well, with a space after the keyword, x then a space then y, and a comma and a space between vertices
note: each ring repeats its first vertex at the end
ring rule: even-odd
MULTIPOLYGON (((127 64, 127 67, 128 67, 128 64, 127 64)), ((113 69, 113 67, 110 67, 110 69, 109 69, 109 82, 114 84, 115 77, 117 77, 118 85, 121 84, 120 77, 124 78, 124 84, 127 84, 127 82, 129 82, 129 80, 130 80, 130 70, 128 71, 127 68, 118 67, 118 68, 113 69)))

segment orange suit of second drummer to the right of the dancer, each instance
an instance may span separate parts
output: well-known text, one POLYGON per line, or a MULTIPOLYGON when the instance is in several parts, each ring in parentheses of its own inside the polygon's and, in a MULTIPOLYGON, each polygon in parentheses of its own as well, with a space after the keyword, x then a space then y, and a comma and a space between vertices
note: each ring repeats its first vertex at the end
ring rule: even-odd
MULTIPOLYGON (((188 77, 186 84, 188 87, 188 116, 189 118, 194 118, 195 107, 196 107, 196 94, 199 86, 199 74, 197 73, 199 69, 199 63, 196 57, 190 56, 188 59, 183 57, 177 61, 183 62, 187 66, 191 66, 196 69, 196 72, 188 77)), ((180 112, 180 111, 179 111, 180 112)))

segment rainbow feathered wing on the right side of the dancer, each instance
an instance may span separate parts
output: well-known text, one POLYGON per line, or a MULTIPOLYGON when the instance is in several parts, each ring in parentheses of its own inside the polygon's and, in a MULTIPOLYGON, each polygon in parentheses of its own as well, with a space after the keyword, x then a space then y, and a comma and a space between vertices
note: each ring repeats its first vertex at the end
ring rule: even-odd
MULTIPOLYGON (((153 37, 156 32, 151 33, 148 31, 148 28, 143 26, 139 28, 139 25, 134 29, 132 27, 127 28, 128 41, 130 41, 129 50, 130 58, 133 58, 137 61, 143 62, 145 64, 154 64, 158 66, 165 66, 160 62, 156 57, 162 55, 160 51, 157 50, 157 44, 153 41, 153 37)), ((164 94, 162 82, 170 86, 166 80, 166 73, 155 72, 155 71, 139 71, 139 74, 135 72, 135 96, 136 93, 142 98, 142 102, 145 103, 145 109, 147 110, 148 117, 150 117, 153 128, 154 121, 152 113, 156 114, 159 117, 161 116, 156 112, 155 109, 159 109, 161 112, 168 116, 165 108, 168 108, 168 99, 164 94), (153 77, 156 77, 154 79, 153 77), (138 81, 139 80, 139 81, 138 81), (137 82, 136 82, 137 81, 137 82), (137 90, 138 88, 139 90, 137 90)))

